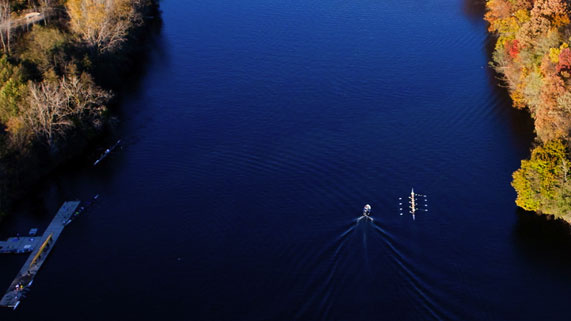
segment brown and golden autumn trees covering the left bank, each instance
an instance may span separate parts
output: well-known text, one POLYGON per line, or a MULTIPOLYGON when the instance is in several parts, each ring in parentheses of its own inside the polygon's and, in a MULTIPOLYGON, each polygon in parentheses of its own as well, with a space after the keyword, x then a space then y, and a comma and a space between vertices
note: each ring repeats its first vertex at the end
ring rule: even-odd
POLYGON ((113 67, 125 65, 126 47, 157 6, 0 0, 0 210, 22 168, 57 163, 77 136, 101 132, 114 96, 106 83, 121 69, 113 67))

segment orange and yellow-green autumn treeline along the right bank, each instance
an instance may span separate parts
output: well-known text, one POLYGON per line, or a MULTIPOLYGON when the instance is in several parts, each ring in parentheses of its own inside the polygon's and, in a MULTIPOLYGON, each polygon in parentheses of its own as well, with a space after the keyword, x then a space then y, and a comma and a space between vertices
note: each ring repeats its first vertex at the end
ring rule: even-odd
POLYGON ((516 108, 534 119, 536 147, 513 174, 516 204, 571 222, 571 20, 565 0, 487 0, 492 65, 516 108))

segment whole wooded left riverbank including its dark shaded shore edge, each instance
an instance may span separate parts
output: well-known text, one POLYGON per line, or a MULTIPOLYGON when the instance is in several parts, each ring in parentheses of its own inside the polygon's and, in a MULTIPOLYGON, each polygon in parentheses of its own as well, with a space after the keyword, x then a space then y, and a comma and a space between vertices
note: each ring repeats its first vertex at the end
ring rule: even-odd
MULTIPOLYGON (((111 129, 122 83, 161 24, 154 0, 82 11, 86 1, 51 8, 65 14, 43 25, 0 32, 0 219, 15 199, 111 129)), ((14 16, 32 10, 10 9, 19 10, 14 16)))

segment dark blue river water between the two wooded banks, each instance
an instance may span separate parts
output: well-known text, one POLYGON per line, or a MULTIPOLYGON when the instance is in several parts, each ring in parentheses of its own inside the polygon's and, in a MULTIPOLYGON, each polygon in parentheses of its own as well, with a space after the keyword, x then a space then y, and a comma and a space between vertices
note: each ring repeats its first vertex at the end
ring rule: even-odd
MULTIPOLYGON (((514 205, 533 132, 487 68, 481 4, 161 7, 125 148, 1 226, 101 195, 1 320, 569 319, 569 231, 514 205)), ((24 260, 0 257, 0 288, 24 260)))

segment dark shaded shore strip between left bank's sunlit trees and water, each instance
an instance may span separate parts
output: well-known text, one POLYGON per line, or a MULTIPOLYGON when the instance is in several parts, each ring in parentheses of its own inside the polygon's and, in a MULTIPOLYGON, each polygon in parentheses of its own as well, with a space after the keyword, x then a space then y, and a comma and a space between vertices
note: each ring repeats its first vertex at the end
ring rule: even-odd
POLYGON ((12 206, 42 181, 65 170, 73 163, 87 159, 98 147, 114 139, 119 119, 114 116, 126 92, 136 86, 144 75, 144 64, 149 59, 154 39, 162 28, 158 1, 144 12, 144 22, 134 28, 124 46, 113 55, 103 55, 95 63, 96 83, 113 92, 108 112, 100 128, 77 128, 58 141, 56 148, 34 143, 27 151, 11 152, 0 159, 0 223, 10 215, 12 206))

